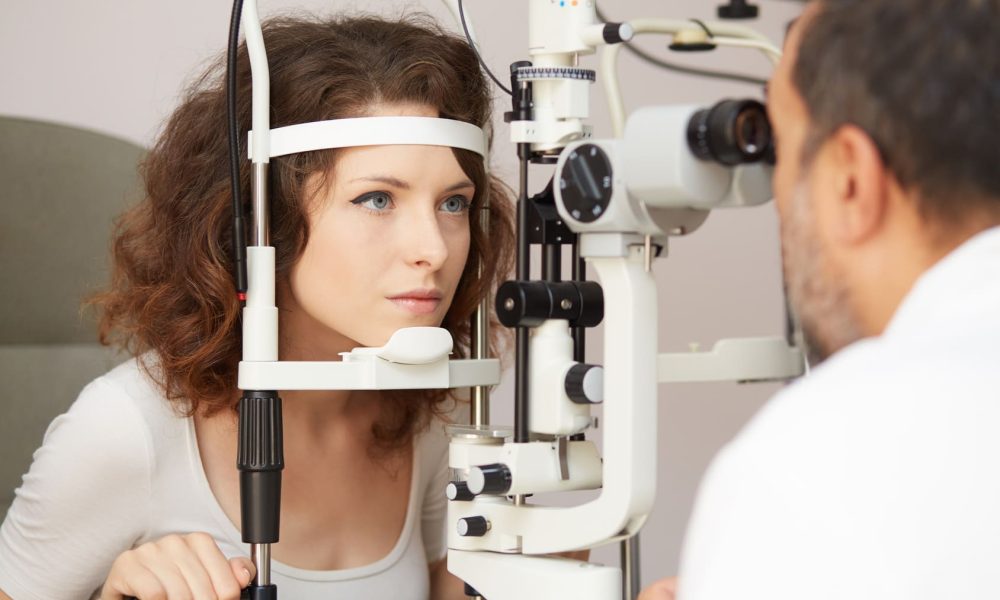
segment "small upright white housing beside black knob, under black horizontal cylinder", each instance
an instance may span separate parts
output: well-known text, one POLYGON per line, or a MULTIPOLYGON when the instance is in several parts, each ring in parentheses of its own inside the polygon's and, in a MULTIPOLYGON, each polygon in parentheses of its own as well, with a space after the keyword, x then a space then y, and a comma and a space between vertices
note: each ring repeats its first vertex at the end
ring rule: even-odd
POLYGON ((590 405, 577 404, 566 395, 566 373, 573 360, 569 322, 546 321, 531 331, 531 430, 550 435, 573 435, 591 424, 590 405))

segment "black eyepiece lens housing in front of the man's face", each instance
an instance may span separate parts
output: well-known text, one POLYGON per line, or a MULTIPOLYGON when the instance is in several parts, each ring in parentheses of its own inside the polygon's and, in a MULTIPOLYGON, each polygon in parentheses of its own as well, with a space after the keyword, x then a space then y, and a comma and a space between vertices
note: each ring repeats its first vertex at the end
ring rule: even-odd
POLYGON ((727 167, 764 159, 773 143, 767 110, 756 100, 723 100, 699 110, 687 137, 695 156, 727 167))

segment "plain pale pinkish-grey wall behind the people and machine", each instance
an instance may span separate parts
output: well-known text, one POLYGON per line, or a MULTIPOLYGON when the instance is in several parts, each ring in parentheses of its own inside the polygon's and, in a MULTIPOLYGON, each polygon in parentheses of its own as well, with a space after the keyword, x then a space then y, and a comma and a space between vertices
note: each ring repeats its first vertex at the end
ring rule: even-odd
MULTIPOLYGON (((720 0, 721 1, 721 0, 720 0)), ((786 23, 801 9, 795 2, 763 0, 762 18, 754 25, 780 42, 786 23)), ((525 58, 526 0, 468 0, 483 53, 498 75, 525 58), (487 25, 488 24, 488 25, 487 25)), ((616 0, 605 2, 608 17, 714 18, 710 0, 616 0)), ((262 15, 287 10, 365 10, 395 14, 423 9, 450 23, 435 0, 417 2, 322 2, 265 0, 262 15)), ((0 19, 0 114, 68 123, 149 144, 162 120, 176 105, 184 82, 220 56, 226 42, 228 2, 175 0, 4 0, 0 19)), ((665 55, 662 38, 643 40, 650 51, 665 55)), ((706 56, 670 56, 675 61, 708 65, 766 77, 768 63, 740 50, 706 56)), ((585 62, 593 64, 592 60, 585 62)), ((626 52, 620 79, 629 110, 642 105, 709 104, 723 97, 760 97, 754 86, 695 79, 665 73, 626 52)), ((500 112, 508 106, 497 95, 497 171, 516 184, 515 159, 504 139, 500 112)), ((610 135, 601 90, 592 97, 595 135, 610 135)), ((547 172, 533 173, 534 186, 547 172)), ((782 332, 782 298, 777 224, 770 206, 721 212, 669 256, 658 261, 661 294, 661 350, 682 350, 690 342, 708 347, 723 337, 774 335, 782 332)), ((600 333, 589 343, 591 361, 600 360, 600 333)), ((710 458, 775 391, 773 385, 673 385, 660 390, 659 484, 656 509, 642 534, 643 580, 673 574, 694 494, 710 458)), ((510 422, 508 382, 494 399, 495 422, 510 422)), ((595 552, 617 561, 616 548, 595 552)))

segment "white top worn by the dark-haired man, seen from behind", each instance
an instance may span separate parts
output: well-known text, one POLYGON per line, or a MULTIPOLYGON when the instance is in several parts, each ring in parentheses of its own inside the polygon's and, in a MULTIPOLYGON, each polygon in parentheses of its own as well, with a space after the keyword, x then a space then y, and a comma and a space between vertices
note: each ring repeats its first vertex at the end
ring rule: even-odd
POLYGON ((680 586, 681 600, 1000 598, 1000 228, 720 453, 680 586))

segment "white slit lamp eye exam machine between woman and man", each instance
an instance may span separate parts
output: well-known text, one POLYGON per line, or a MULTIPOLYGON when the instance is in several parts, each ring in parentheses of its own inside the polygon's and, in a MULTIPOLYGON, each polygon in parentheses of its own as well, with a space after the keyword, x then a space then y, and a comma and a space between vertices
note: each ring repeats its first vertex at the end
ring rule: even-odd
MULTIPOLYGON (((475 49, 461 0, 446 4, 475 49)), ((725 100, 709 108, 653 106, 626 117, 616 75, 621 48, 637 35, 669 36, 678 50, 744 47, 775 62, 779 49, 730 19, 606 23, 593 0, 528 0, 527 5, 528 60, 511 65, 505 88, 511 96, 505 120, 519 161, 517 268, 514 279, 484 300, 473 318, 471 357, 449 358, 452 338, 444 329, 410 328, 397 331, 383 347, 357 348, 340 361, 291 362, 278 359, 269 159, 338 147, 432 144, 472 150, 487 160, 486 135, 474 125, 426 117, 271 129, 257 3, 234 3, 232 112, 240 21, 253 78, 249 223, 238 181, 238 161, 246 155, 240 156, 230 116, 237 289, 246 302, 237 466, 241 531, 257 566, 246 598, 278 597, 270 547, 279 537, 284 466, 279 390, 471 388, 471 422, 450 427, 453 476, 441 490, 449 500, 449 571, 466 582, 470 596, 488 600, 620 600, 638 593, 636 536, 653 508, 657 385, 787 380, 806 368, 802 353, 785 337, 723 340, 709 352, 659 353, 653 261, 671 237, 693 233, 711 211, 771 199, 770 126, 763 106, 753 100, 725 100), (578 66, 581 56, 594 53, 599 73, 578 66), (613 127, 613 136, 603 139, 593 138, 587 124, 591 87, 598 79, 613 127), (528 193, 532 163, 555 168, 535 195, 528 193), (532 245, 541 247, 537 277, 530 268, 532 245), (564 246, 572 252, 568 278, 561 272, 564 246), (588 272, 596 281, 587 279, 588 272), (515 332, 513 427, 487 422, 489 389, 500 381, 499 361, 487 351, 491 309, 515 332), (586 330, 601 323, 602 364, 587 364, 586 330), (603 404, 599 428, 595 404, 603 404), (597 433, 603 452, 587 437, 597 433), (595 490, 596 496, 592 492, 571 506, 533 501, 548 492, 581 490, 595 490), (610 543, 622 544, 622 568, 552 556, 610 543)), ((745 1, 731 1, 720 16, 747 16, 751 9, 745 1)))

